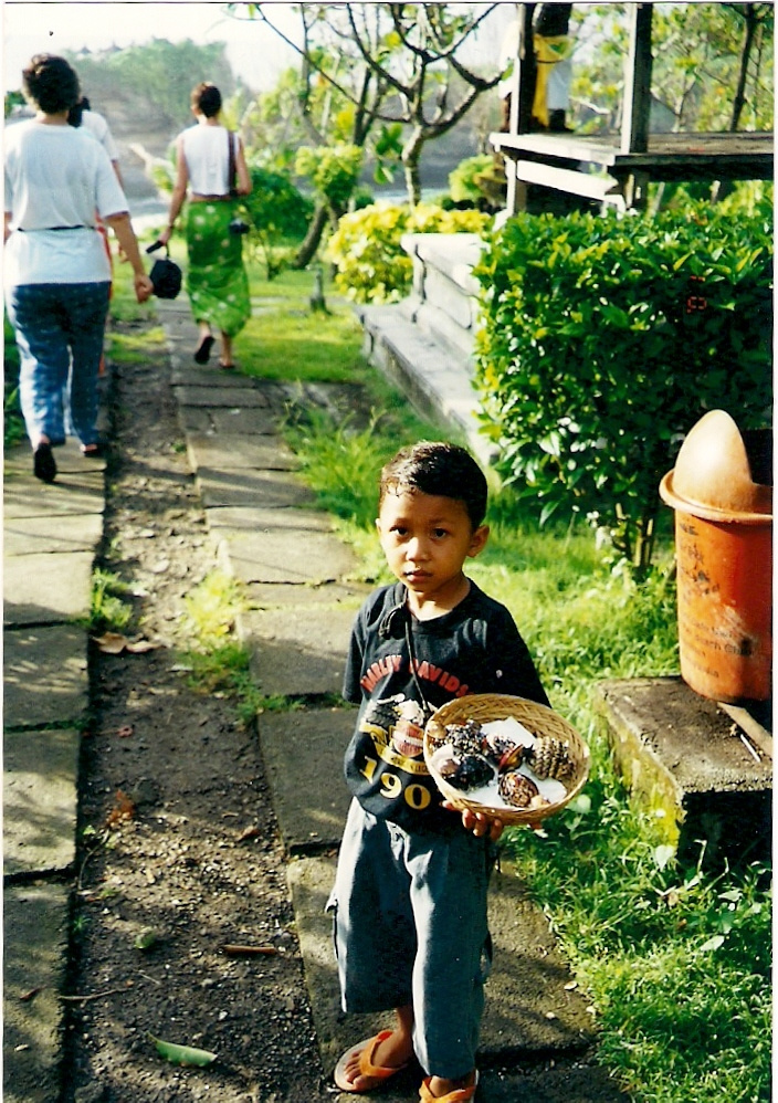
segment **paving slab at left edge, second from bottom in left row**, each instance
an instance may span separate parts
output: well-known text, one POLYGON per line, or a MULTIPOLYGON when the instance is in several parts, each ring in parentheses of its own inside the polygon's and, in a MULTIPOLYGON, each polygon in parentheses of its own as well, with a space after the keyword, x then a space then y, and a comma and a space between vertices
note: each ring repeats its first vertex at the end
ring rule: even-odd
POLYGON ((3 737, 3 871, 63 873, 75 861, 81 737, 72 729, 3 737))

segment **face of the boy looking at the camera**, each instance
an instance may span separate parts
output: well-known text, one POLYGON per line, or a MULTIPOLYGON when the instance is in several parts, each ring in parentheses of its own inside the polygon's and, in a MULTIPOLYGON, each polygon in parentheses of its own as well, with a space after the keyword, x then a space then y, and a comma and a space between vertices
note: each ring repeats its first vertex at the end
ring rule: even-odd
POLYGON ((473 531, 463 502, 419 491, 390 493, 376 525, 387 563, 408 587, 412 605, 446 610, 462 600, 467 590, 463 564, 488 536, 485 525, 473 531))

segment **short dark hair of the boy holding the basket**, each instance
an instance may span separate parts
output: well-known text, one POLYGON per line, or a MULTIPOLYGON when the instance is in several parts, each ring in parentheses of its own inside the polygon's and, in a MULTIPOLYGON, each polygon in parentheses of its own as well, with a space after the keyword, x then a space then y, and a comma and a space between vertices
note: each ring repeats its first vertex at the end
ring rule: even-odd
POLYGON ((378 508, 387 494, 421 491, 464 504, 473 529, 486 515, 486 476, 466 449, 445 441, 401 448, 381 470, 378 508))

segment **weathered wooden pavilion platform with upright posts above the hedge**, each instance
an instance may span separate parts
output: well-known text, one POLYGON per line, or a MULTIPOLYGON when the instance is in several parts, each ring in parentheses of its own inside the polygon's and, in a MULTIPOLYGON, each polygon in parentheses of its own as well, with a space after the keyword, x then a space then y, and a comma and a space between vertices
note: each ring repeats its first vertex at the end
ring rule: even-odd
POLYGON ((516 4, 519 45, 512 75, 509 128, 490 136, 492 145, 505 158, 507 214, 524 209, 527 185, 614 203, 622 209, 639 209, 645 204, 652 180, 772 179, 771 132, 650 133, 652 3, 628 6, 630 49, 624 65, 621 133, 612 136, 530 133, 526 44, 532 42, 535 7, 516 4))

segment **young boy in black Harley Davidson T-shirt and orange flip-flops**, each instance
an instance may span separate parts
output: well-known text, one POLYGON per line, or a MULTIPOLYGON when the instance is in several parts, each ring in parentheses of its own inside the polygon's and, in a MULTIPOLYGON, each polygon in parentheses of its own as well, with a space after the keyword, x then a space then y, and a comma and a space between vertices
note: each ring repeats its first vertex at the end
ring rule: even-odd
POLYGON ((343 1008, 393 1008, 396 1026, 335 1070, 369 1092, 416 1055, 421 1100, 475 1095, 475 1050, 491 959, 486 889, 502 823, 454 813, 427 771, 431 713, 467 693, 548 698, 507 609, 463 572, 484 548, 486 480, 464 450, 422 441, 381 472, 376 522, 397 582, 374 592, 351 632, 344 696, 359 704, 345 771, 354 800, 335 887, 343 1008))

